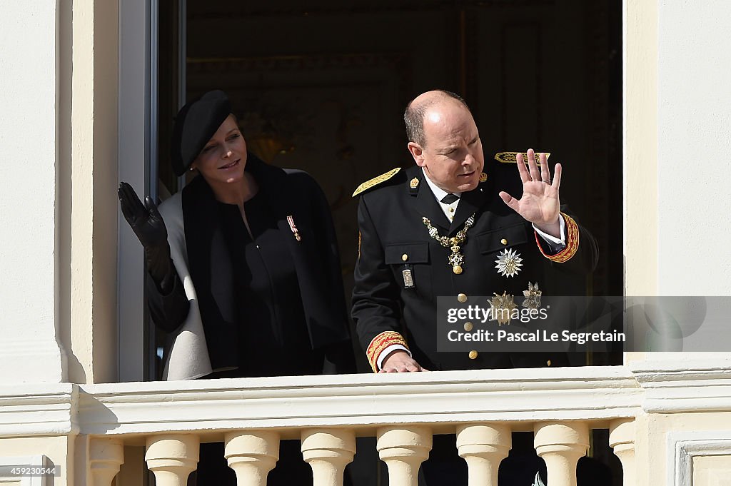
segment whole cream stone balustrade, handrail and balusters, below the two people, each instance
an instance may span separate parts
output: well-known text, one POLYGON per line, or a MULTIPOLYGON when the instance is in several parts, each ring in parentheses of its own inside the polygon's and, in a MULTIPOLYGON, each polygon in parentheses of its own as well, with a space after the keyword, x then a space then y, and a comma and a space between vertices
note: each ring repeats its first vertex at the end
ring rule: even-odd
POLYGON ((589 431, 634 485, 642 389, 618 367, 447 371, 80 385, 78 431, 94 486, 110 486, 124 445, 145 445, 158 486, 186 485, 200 443, 223 441, 238 485, 265 486, 281 439, 300 438, 316 486, 341 486, 357 436, 375 436, 390 484, 416 486, 433 434, 455 433, 470 486, 495 486, 513 431, 532 431, 548 482, 576 484, 589 431))

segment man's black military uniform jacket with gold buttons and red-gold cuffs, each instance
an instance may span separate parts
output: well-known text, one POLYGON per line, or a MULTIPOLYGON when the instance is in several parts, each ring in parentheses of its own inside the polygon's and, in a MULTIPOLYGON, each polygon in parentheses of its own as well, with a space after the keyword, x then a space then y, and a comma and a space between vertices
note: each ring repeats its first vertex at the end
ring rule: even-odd
MULTIPOLYGON (((437 351, 436 297, 503 292, 522 296, 529 281, 537 282, 544 295, 567 295, 562 289, 551 288, 555 274, 581 276, 596 266, 596 242, 578 226, 579 245, 572 258, 558 263, 545 257, 531 224, 498 195, 508 184, 514 187, 514 181, 499 181, 501 176, 494 174, 499 172, 462 194, 451 224, 420 167, 401 170, 361 195, 352 317, 363 349, 368 349, 379 334, 395 331, 406 339, 414 360, 429 370, 523 368, 545 366, 548 360, 553 365, 567 364, 563 353, 479 353, 470 359, 467 352, 437 351), (412 184, 412 179, 418 184, 412 184), (431 220, 439 235, 451 237, 472 213, 476 214, 474 225, 461 248, 463 273, 456 275, 447 264, 450 249, 428 235, 423 217, 431 220), (518 251, 523 259, 520 273, 512 278, 501 276, 495 268, 497 255, 504 248, 518 251), (413 286, 404 283, 403 270, 411 270, 413 286)), ((567 232, 569 229, 567 225, 567 232)), ((567 244, 571 246, 571 241, 567 244)))

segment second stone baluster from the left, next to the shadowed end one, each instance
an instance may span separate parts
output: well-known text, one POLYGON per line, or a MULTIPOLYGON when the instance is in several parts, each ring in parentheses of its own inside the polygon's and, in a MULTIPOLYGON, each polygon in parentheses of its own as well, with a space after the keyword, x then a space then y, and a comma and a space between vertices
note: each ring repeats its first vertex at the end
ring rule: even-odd
POLYGON ((198 436, 169 434, 147 438, 145 461, 157 486, 185 486, 198 464, 198 436))

